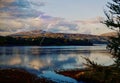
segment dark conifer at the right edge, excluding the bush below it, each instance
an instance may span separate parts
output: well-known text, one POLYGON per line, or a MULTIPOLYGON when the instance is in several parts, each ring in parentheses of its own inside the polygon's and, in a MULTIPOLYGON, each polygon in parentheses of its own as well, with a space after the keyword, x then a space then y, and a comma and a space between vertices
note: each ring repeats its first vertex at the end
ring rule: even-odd
POLYGON ((108 28, 115 30, 116 37, 108 41, 107 49, 115 58, 117 67, 120 67, 120 0, 112 0, 107 4, 108 11, 105 11, 106 20, 103 22, 108 28))

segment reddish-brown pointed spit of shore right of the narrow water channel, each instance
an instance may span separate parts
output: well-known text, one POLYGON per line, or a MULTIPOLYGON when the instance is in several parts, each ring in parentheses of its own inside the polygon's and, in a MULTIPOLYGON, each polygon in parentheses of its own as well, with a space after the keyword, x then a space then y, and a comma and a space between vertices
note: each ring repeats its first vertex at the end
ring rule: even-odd
POLYGON ((90 72, 92 71, 91 69, 88 69, 88 68, 83 68, 83 69, 71 69, 71 70, 62 70, 62 71, 55 71, 57 74, 61 74, 61 75, 64 75, 64 76, 68 76, 68 77, 71 77, 75 80, 77 80, 78 82, 79 81, 82 81, 83 83, 99 83, 98 81, 96 80, 93 80, 93 79, 90 79, 90 78, 87 78, 84 76, 85 72, 90 72))

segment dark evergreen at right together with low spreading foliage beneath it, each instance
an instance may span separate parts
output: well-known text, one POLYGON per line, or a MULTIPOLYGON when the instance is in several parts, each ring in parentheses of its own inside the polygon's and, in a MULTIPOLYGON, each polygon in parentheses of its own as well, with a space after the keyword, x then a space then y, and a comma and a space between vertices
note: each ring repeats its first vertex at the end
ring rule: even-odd
MULTIPOLYGON (((115 30, 117 35, 111 37, 108 41, 107 49, 115 58, 115 64, 104 66, 89 58, 86 60, 86 66, 91 71, 84 74, 84 77, 89 79, 98 80, 98 83, 119 83, 120 82, 120 0, 112 0, 107 4, 108 11, 105 11, 106 20, 103 21, 108 28, 115 30)), ((97 82, 95 82, 97 83, 97 82)))

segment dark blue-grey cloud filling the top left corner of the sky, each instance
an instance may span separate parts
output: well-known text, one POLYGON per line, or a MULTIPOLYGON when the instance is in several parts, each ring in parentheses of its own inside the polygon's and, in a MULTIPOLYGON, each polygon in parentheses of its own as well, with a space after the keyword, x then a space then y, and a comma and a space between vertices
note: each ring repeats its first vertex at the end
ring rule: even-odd
MULTIPOLYGON (((38 1, 38 0, 36 0, 38 1)), ((17 18, 26 18, 26 17, 37 17, 41 11, 38 11, 37 8, 44 6, 43 2, 35 2, 33 0, 10 0, 0 1, 0 12, 6 12, 11 14, 11 16, 17 18)))

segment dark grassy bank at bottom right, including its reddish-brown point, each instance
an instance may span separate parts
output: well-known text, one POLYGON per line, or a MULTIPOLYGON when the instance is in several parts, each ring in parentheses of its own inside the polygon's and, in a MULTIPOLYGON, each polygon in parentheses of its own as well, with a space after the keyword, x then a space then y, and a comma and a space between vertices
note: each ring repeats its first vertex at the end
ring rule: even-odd
POLYGON ((98 66, 94 69, 64 70, 57 73, 85 83, 120 83, 120 69, 113 66, 98 66))

